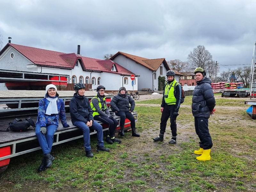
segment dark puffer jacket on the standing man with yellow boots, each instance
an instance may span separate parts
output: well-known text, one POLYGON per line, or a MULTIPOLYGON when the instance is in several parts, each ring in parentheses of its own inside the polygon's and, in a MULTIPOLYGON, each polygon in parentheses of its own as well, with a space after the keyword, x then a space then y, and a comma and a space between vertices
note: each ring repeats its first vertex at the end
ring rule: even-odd
POLYGON ((193 92, 192 113, 194 117, 210 117, 210 111, 215 107, 215 98, 212 91, 211 79, 204 77, 196 82, 193 92))

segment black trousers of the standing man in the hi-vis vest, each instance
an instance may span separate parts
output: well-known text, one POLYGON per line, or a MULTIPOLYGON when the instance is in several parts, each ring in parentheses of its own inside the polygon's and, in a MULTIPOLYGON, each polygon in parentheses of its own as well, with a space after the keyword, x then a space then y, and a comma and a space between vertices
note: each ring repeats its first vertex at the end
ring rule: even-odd
POLYGON ((160 123, 160 135, 162 136, 164 136, 166 124, 169 117, 171 122, 170 127, 172 130, 172 137, 177 136, 177 124, 176 124, 177 116, 173 116, 174 108, 175 108, 175 105, 164 105, 164 110, 162 112, 161 123, 160 123))

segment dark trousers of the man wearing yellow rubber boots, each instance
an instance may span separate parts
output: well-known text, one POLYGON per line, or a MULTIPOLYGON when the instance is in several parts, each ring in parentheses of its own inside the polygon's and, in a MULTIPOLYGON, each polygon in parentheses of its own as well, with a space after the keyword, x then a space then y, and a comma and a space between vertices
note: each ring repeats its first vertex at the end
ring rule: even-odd
POLYGON ((196 134, 200 139, 200 147, 205 150, 212 148, 212 138, 208 129, 208 118, 195 117, 195 128, 196 134))

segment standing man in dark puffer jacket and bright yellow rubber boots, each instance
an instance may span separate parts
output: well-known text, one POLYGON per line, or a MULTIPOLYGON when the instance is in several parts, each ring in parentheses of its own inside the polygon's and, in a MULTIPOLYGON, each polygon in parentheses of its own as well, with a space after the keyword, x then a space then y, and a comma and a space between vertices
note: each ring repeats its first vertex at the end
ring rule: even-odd
POLYGON ((214 113, 215 98, 212 91, 211 79, 207 78, 203 68, 195 69, 196 87, 192 98, 192 113, 195 117, 196 134, 200 142, 200 149, 194 153, 201 155, 196 159, 200 161, 210 160, 212 138, 208 129, 208 119, 214 113))

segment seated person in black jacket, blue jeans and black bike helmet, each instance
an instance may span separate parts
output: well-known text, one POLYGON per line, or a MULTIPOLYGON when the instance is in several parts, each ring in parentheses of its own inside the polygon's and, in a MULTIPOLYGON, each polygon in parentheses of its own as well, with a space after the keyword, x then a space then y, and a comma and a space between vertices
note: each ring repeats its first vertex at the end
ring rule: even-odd
POLYGON ((97 151, 109 151, 104 147, 102 126, 93 121, 92 108, 87 97, 84 97, 85 85, 76 83, 75 94, 70 100, 69 109, 72 124, 82 129, 84 133, 84 149, 87 157, 93 157, 90 144, 90 128, 97 131, 97 151), (89 128, 90 127, 90 128, 89 128))

